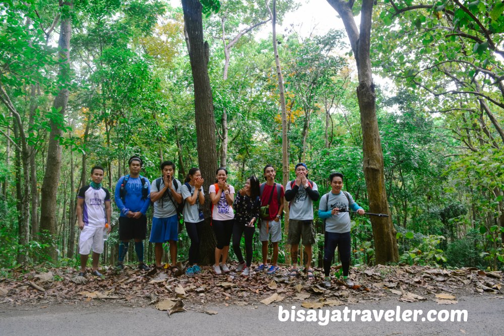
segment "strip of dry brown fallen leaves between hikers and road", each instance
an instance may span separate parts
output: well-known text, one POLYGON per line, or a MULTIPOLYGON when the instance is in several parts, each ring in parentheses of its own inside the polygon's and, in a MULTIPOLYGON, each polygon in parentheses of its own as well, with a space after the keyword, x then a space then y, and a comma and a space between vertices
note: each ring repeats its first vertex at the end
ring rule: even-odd
POLYGON ((167 299, 180 302, 177 307, 173 304, 171 314, 184 311, 184 303, 187 309, 238 302, 241 305, 257 305, 263 301, 267 302, 264 304, 280 301, 302 304, 308 298, 323 298, 326 305, 331 300, 352 304, 383 299, 406 302, 431 299, 438 304, 454 304, 456 293, 504 294, 502 272, 481 271, 475 267, 454 270, 417 265, 352 267, 350 278, 355 286, 347 287, 341 280, 332 278, 329 290, 318 285, 323 280, 323 272, 317 268, 315 281, 303 276, 289 278, 290 268, 286 265, 281 265, 275 276, 260 272, 248 277, 233 272, 216 276, 210 266, 202 268, 201 275, 187 278, 174 277, 169 270, 144 273, 130 267, 123 272, 108 267, 102 271, 104 277, 93 277, 89 272, 85 277, 78 277, 78 271, 72 267, 18 267, 9 278, 0 279, 0 303, 47 305, 107 299, 130 305, 159 304, 167 299))

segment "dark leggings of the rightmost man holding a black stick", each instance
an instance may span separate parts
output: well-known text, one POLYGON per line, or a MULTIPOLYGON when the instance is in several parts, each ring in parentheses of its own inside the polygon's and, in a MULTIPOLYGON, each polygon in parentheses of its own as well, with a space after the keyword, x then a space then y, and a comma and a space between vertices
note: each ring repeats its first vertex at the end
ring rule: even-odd
POLYGON ((326 277, 329 277, 331 273, 331 263, 333 261, 336 246, 338 246, 338 252, 340 252, 343 276, 348 277, 351 249, 350 232, 336 233, 326 231, 324 235, 324 246, 324 274, 326 277))

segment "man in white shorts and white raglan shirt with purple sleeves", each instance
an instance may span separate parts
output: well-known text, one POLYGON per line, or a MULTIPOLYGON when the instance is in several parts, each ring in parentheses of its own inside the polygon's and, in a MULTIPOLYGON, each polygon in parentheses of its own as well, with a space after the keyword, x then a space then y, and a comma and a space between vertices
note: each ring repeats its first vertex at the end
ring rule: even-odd
POLYGON ((103 253, 103 234, 110 233, 110 193, 102 187, 103 168, 91 168, 91 182, 79 190, 77 198, 77 219, 81 235, 79 236, 79 254, 81 255, 81 272, 86 276, 86 263, 89 252, 93 249, 93 266, 91 274, 101 277, 98 272, 100 254, 103 253), (107 227, 106 227, 107 226, 107 227))

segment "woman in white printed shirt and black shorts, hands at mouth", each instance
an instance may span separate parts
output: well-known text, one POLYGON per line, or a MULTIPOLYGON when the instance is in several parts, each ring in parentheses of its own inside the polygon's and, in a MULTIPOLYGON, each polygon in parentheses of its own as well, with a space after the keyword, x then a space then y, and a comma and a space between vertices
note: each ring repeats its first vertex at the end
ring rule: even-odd
POLYGON ((234 212, 234 188, 227 183, 226 168, 219 168, 215 172, 216 183, 210 185, 208 193, 212 201, 212 227, 214 228, 217 246, 215 247, 215 274, 229 272, 226 265, 229 253, 229 242, 233 234, 234 212), (222 257, 222 261, 221 261, 222 257))

